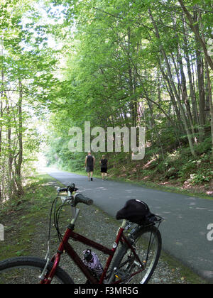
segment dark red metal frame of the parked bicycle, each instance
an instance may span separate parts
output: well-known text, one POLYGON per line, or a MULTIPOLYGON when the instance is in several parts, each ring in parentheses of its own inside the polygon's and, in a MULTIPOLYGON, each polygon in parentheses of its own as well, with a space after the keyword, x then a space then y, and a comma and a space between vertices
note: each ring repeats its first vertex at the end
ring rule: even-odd
MULTIPOLYGON (((60 256, 62 255, 62 253, 66 252, 70 256, 70 258, 75 262, 77 267, 79 267, 80 270, 84 273, 85 277, 87 277, 87 280, 89 280, 89 282, 91 282, 92 284, 102 284, 104 282, 104 278, 107 276, 107 271, 111 264, 111 260, 113 259, 114 254, 116 253, 116 248, 118 247, 119 242, 126 243, 129 246, 132 253, 136 257, 136 260, 138 260, 138 263, 140 263, 140 265, 141 265, 141 270, 138 270, 138 272, 134 272, 131 275, 131 277, 133 277, 133 275, 136 275, 139 272, 143 271, 144 265, 141 263, 141 260, 138 258, 138 255, 136 254, 136 251, 132 247, 131 243, 129 243, 128 239, 124 236, 125 226, 126 226, 126 221, 123 221, 123 224, 119 228, 119 231, 117 233, 113 248, 111 248, 111 249, 109 249, 99 243, 96 243, 88 238, 85 238, 84 236, 81 236, 78 233, 75 233, 74 232, 74 227, 75 227, 74 224, 71 224, 70 226, 68 226, 67 231, 65 232, 65 236, 63 237, 62 242, 60 243, 60 246, 57 250, 57 253, 53 256, 53 258, 51 260, 51 262, 53 263, 53 268, 50 271, 50 273, 48 274, 48 276, 45 276, 45 279, 41 283, 50 284, 50 282, 53 280, 53 277, 55 275, 55 271, 57 270, 57 267, 60 263, 60 256), (79 255, 77 255, 77 253, 72 248, 70 243, 68 243, 70 238, 72 238, 73 240, 78 241, 80 243, 84 243, 85 245, 89 245, 89 247, 92 247, 99 251, 102 251, 102 253, 104 253, 106 255, 109 255, 109 258, 107 259, 107 263, 104 267, 104 272, 103 272, 100 280, 97 280, 94 276, 92 276, 91 272, 89 272, 89 270, 87 269, 87 266, 84 265, 84 263, 81 260, 81 258, 79 257, 79 255)), ((114 283, 119 283, 119 282, 121 282, 121 280, 116 281, 114 283)))

